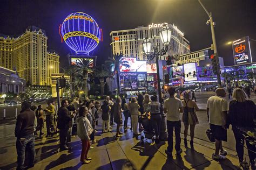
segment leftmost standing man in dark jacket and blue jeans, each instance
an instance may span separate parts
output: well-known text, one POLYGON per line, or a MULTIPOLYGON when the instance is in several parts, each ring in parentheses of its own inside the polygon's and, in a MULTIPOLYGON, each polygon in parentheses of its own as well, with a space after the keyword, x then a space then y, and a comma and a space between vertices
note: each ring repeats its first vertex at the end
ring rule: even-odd
POLYGON ((25 161, 25 151, 28 150, 29 157, 29 167, 33 167, 35 164, 35 137, 34 137, 34 121, 35 112, 32 111, 31 102, 24 101, 21 105, 21 114, 17 117, 17 122, 15 126, 15 137, 16 140, 16 150, 17 150, 17 169, 24 169, 25 161))

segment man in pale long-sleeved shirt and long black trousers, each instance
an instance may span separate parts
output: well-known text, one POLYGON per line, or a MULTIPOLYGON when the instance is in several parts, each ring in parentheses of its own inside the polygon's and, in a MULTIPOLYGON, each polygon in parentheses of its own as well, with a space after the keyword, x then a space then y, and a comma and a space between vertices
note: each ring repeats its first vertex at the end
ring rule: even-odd
POLYGON ((183 104, 181 103, 179 98, 174 97, 175 91, 176 90, 174 87, 169 87, 168 93, 170 97, 164 101, 164 113, 167 115, 166 118, 168 132, 168 147, 167 150, 165 150, 165 153, 170 157, 172 157, 173 149, 173 128, 175 130, 175 150, 177 152, 177 155, 180 155, 180 153, 182 152, 180 148, 180 113, 183 112, 183 104))

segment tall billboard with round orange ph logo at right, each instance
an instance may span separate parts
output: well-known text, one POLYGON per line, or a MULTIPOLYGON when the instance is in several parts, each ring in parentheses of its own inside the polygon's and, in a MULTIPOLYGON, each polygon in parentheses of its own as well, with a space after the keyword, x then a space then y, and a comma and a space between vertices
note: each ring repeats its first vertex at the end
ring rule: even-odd
POLYGON ((235 65, 250 62, 251 56, 248 36, 233 41, 232 47, 235 65))

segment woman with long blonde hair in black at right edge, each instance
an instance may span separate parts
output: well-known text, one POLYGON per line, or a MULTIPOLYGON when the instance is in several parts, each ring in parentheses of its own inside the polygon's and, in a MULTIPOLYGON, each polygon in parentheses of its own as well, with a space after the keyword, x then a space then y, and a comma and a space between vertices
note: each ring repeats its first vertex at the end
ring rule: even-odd
POLYGON ((250 144, 250 140, 254 137, 247 137, 248 131, 254 132, 256 118, 255 103, 248 100, 244 90, 235 88, 232 94, 233 100, 230 102, 230 109, 228 111, 226 128, 231 124, 235 137, 235 148, 237 150, 240 165, 244 165, 244 143, 248 148, 248 155, 250 158, 252 169, 255 169, 255 152, 256 148, 250 144))

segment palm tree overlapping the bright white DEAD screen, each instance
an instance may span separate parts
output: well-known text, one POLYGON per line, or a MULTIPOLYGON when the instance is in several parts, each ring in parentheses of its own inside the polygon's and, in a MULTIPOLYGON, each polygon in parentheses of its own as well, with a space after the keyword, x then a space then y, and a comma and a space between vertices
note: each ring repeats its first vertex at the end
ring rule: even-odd
POLYGON ((128 61, 124 61, 122 60, 122 58, 123 58, 122 53, 120 54, 114 53, 113 58, 110 58, 109 61, 107 61, 112 63, 112 65, 114 65, 114 72, 117 74, 117 94, 118 95, 120 94, 120 82, 119 82, 120 65, 126 68, 130 67, 130 65, 128 65, 128 61))

